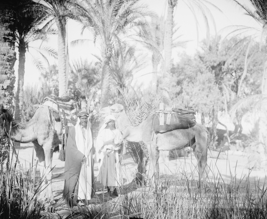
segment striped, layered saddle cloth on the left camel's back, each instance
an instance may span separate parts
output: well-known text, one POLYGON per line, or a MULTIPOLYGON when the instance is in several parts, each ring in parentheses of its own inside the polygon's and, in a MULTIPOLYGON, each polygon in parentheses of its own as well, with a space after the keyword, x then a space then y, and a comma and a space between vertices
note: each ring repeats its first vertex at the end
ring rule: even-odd
POLYGON ((48 106, 50 111, 60 116, 63 125, 63 134, 66 127, 75 126, 77 122, 77 103, 71 98, 60 98, 56 96, 45 97, 42 105, 48 106))

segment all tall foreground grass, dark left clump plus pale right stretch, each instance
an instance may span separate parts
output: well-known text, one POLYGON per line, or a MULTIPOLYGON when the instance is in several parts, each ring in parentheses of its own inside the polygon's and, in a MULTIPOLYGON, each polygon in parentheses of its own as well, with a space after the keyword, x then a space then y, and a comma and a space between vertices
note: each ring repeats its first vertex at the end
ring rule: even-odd
MULTIPOLYGON (((7 151, 10 151, 9 143, 7 151)), ((8 153, 0 168, 0 218, 41 218, 36 196, 39 188, 34 188, 31 172, 23 173, 18 168, 13 153, 11 156, 8 153)), ((207 181, 199 183, 194 179, 197 168, 192 166, 192 173, 185 168, 179 170, 166 172, 155 188, 124 186, 117 199, 79 207, 69 218, 267 218, 266 176, 258 180, 250 174, 237 178, 235 169, 225 178, 210 170, 207 181)), ((144 180, 140 185, 145 185, 144 180)))

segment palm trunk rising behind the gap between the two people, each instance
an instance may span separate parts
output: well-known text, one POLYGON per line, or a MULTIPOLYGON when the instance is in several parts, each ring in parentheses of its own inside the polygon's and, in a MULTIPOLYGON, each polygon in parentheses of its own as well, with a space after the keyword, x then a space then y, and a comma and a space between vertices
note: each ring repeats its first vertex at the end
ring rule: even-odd
POLYGON ((109 105, 109 78, 110 78, 110 66, 109 61, 111 58, 111 52, 107 52, 104 55, 102 61, 102 74, 101 74, 101 107, 106 107, 109 105))

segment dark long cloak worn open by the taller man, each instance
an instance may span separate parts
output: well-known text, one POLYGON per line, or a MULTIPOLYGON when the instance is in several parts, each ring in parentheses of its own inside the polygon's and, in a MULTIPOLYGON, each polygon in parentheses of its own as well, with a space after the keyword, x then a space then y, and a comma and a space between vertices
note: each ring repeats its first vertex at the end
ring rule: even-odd
MULTIPOLYGON (((92 131, 92 129, 91 129, 92 131)), ((93 131, 92 131, 93 137, 93 131)), ((95 153, 94 145, 92 146, 91 153, 95 153)), ((75 128, 71 127, 69 130, 69 135, 66 144, 66 157, 65 157, 65 168, 64 168, 64 189, 63 189, 63 199, 66 199, 68 207, 73 207, 77 202, 78 194, 78 180, 82 167, 82 158, 84 154, 77 149, 75 142, 75 128)), ((94 160, 92 159, 92 193, 91 198, 93 198, 96 187, 94 178, 94 160)))

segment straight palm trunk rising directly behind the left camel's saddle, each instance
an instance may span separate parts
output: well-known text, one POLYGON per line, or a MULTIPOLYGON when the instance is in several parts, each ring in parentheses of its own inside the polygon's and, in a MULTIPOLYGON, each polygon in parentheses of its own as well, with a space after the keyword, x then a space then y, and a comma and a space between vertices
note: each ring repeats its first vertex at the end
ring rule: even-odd
POLYGON ((66 41, 65 41, 65 20, 55 17, 58 27, 58 88, 59 97, 66 93, 66 41))

